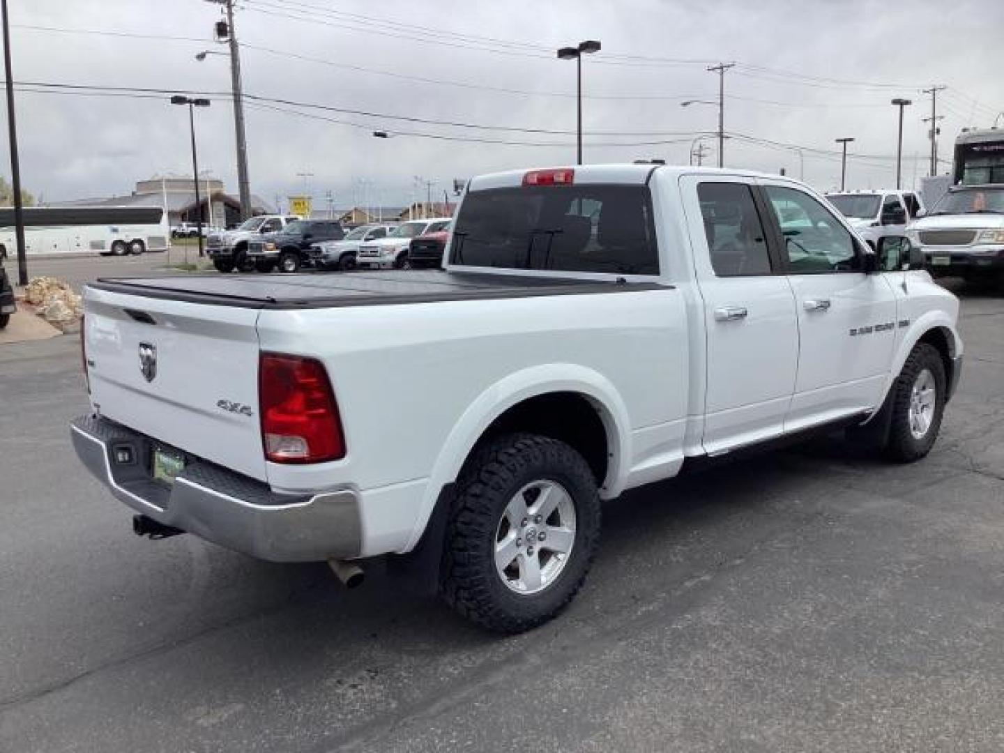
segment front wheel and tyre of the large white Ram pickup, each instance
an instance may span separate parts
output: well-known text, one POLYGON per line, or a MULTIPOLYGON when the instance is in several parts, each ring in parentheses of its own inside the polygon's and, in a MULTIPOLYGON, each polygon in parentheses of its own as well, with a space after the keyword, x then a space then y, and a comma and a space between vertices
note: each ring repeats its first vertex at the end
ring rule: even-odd
POLYGON ((911 463, 931 452, 941 429, 947 382, 938 350, 926 342, 914 347, 893 384, 886 446, 890 458, 911 463))

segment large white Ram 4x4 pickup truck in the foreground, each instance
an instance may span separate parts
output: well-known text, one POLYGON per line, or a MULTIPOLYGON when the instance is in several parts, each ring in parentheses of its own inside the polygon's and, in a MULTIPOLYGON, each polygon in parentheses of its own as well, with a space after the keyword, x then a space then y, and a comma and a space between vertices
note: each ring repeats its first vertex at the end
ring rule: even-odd
POLYGON ((349 583, 390 555, 514 633, 579 588, 600 500, 809 431, 928 453, 958 301, 877 246, 776 176, 483 176, 446 272, 88 284, 73 444, 139 533, 349 583))

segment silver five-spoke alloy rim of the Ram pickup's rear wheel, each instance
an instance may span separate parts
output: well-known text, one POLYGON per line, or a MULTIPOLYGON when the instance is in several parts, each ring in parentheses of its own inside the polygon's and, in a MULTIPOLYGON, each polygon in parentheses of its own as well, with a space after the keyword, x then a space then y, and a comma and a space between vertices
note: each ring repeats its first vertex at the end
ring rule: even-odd
POLYGON ((575 504, 556 481, 534 481, 509 500, 495 532, 495 570, 516 593, 553 583, 575 541, 575 504))

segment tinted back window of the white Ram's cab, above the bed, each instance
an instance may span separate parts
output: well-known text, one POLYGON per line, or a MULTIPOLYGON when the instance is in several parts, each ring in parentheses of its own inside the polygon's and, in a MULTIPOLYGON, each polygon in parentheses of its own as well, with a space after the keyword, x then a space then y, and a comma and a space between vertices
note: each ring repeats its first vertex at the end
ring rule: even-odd
POLYGON ((647 186, 523 186, 468 192, 450 262, 474 267, 659 274, 647 186))

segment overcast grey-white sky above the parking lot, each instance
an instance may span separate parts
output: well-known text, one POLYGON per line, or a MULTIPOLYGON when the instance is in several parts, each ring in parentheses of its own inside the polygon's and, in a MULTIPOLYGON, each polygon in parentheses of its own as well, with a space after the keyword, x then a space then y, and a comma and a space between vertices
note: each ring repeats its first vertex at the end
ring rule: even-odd
MULTIPOLYGON (((136 91, 154 89, 214 92, 197 112, 200 167, 236 193, 227 58, 195 59, 226 49, 212 41, 220 17, 206 0, 11 2, 25 188, 47 200, 110 196, 190 174, 187 113, 167 93, 136 91)), ((364 191, 369 203, 405 204, 416 176, 442 197, 454 178, 572 163, 575 66, 554 50, 582 39, 602 43, 583 67, 586 162, 686 164, 717 109, 680 102, 717 97, 706 68, 718 61, 737 63, 726 74, 726 164, 783 167, 823 190, 839 181, 838 137, 856 139, 850 187, 894 183, 892 97, 915 102, 907 184, 929 165, 923 88, 948 86, 947 159, 963 127, 988 127, 1004 109, 996 0, 241 0, 236 25, 245 93, 257 97, 252 190, 272 202, 306 183, 320 205, 329 191, 338 207, 364 191)), ((2 151, 6 174, 5 140, 2 151)))

